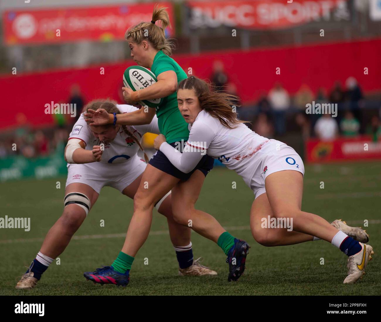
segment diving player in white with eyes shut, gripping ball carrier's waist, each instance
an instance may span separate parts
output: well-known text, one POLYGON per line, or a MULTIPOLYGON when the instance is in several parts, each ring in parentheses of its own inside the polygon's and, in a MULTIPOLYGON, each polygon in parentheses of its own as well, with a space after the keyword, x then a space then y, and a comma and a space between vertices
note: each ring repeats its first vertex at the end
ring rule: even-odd
MULTIPOLYGON (((293 148, 251 131, 233 112, 234 97, 211 91, 199 78, 182 80, 177 97, 179 110, 190 128, 186 147, 180 153, 160 134, 155 139, 157 150, 185 173, 205 153, 237 172, 255 194, 250 226, 260 244, 280 246, 323 239, 348 256, 345 284, 355 283, 365 274, 365 266, 373 254, 372 247, 365 244, 369 240, 366 232, 341 220, 330 224, 318 215, 301 210, 304 165, 293 148), (280 225, 273 228, 268 216, 276 218, 277 223, 292 223, 292 230, 280 225)), ((181 205, 174 202, 182 199, 181 193, 192 191, 172 191, 173 215, 177 222, 185 224, 189 214, 183 217, 181 205)))

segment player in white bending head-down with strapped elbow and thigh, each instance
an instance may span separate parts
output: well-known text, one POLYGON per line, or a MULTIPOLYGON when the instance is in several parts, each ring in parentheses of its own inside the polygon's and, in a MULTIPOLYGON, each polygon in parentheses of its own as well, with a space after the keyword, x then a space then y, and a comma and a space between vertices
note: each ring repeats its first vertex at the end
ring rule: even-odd
MULTIPOLYGON (((116 114, 138 110, 131 105, 117 105, 111 100, 92 101, 85 106, 84 111, 90 108, 104 108, 116 114)), ((65 250, 94 206, 102 187, 113 187, 134 198, 147 166, 147 158, 145 161, 137 155, 139 149, 143 150, 141 137, 146 132, 159 134, 156 116, 147 125, 90 126, 81 114, 65 148, 68 175, 62 216, 49 230, 40 251, 17 283, 16 289, 35 287, 54 258, 65 250)), ((179 262, 179 275, 216 275, 215 271, 200 265, 199 260, 193 260, 191 229, 174 221, 170 193, 160 199, 155 208, 167 217, 171 242, 179 262)), ((102 278, 102 282, 115 284, 108 278, 102 278)))

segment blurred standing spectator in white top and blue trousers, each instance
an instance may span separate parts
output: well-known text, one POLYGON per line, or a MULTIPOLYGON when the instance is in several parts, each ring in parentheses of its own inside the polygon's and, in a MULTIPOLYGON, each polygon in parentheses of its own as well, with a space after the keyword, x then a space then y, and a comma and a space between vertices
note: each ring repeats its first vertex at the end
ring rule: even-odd
POLYGON ((275 131, 278 135, 286 132, 286 111, 290 107, 290 96, 280 83, 276 83, 267 96, 274 113, 275 131))

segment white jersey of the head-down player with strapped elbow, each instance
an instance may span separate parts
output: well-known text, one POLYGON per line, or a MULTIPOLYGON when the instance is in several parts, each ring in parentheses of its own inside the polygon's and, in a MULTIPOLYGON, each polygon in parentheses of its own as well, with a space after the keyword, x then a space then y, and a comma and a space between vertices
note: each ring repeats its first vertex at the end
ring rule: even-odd
MULTIPOLYGON (((138 108, 132 105, 117 105, 120 113, 130 113, 138 110, 138 108)), ((141 142, 141 138, 143 134, 147 132, 159 134, 159 128, 157 124, 157 116, 155 115, 152 122, 146 125, 134 125, 134 126, 126 126, 130 129, 135 137, 141 142)), ((70 139, 80 139, 86 144, 86 150, 93 150, 94 145, 99 145, 100 143, 104 143, 96 139, 93 133, 83 117, 83 113, 78 118, 78 121, 74 124, 72 132, 69 135, 70 139)), ((135 140, 127 135, 122 126, 119 129, 119 132, 114 140, 110 143, 104 143, 104 151, 101 156, 101 163, 122 163, 132 159, 133 156, 139 150, 139 145, 135 142, 135 140)))

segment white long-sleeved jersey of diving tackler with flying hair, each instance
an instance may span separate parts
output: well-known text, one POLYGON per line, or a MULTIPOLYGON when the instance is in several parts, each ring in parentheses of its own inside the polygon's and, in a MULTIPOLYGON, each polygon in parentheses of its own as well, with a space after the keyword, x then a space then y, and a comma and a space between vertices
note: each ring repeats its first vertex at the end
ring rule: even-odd
POLYGON ((183 153, 166 142, 160 146, 160 151, 171 163, 185 173, 191 172, 206 152, 240 174, 255 152, 269 140, 245 124, 229 129, 204 110, 197 115, 192 126, 189 124, 189 128, 189 139, 183 153))

